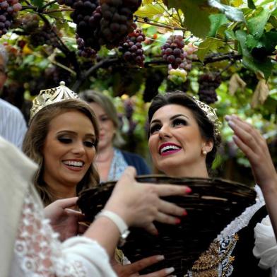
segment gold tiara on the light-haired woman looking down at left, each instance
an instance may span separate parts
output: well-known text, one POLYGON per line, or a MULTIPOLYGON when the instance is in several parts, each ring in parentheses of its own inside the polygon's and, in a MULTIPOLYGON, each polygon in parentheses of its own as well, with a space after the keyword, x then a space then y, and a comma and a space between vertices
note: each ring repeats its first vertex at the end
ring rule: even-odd
POLYGON ((59 83, 60 86, 58 86, 57 88, 40 90, 39 95, 37 95, 33 100, 33 106, 30 110, 30 120, 33 119, 37 112, 48 105, 67 99, 79 99, 78 94, 67 88, 65 84, 66 83, 64 83, 64 81, 61 81, 59 83))

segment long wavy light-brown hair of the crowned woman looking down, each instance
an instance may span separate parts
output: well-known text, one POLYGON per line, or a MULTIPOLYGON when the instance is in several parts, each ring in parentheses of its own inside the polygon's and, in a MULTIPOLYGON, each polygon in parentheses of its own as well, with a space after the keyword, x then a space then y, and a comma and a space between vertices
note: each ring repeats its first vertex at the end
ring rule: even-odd
MULTIPOLYGON (((44 162, 42 149, 45 144, 45 138, 49 131, 49 123, 60 114, 68 112, 70 110, 76 110, 85 114, 95 129, 95 147, 97 149, 99 140, 99 128, 98 122, 93 110, 86 102, 82 100, 64 100, 52 105, 44 107, 40 112, 35 114, 35 117, 29 123, 29 129, 25 135, 23 141, 23 152, 28 155, 29 158, 35 161, 39 165, 39 169, 34 178, 34 183, 37 191, 39 192, 45 206, 52 203, 55 199, 54 195, 50 193, 47 184, 42 179, 44 171, 44 162)), ((81 179, 81 182, 77 184, 76 194, 78 195, 84 189, 95 187, 100 181, 99 175, 93 163, 86 172, 86 175, 81 179)))

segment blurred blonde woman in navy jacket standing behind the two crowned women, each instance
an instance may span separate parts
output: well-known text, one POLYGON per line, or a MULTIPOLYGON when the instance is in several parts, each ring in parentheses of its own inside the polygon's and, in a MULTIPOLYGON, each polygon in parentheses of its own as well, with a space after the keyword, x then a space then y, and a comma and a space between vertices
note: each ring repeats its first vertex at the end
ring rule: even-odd
POLYGON ((94 90, 85 90, 79 96, 93 108, 100 125, 99 152, 95 165, 101 182, 118 179, 128 165, 134 166, 138 175, 150 174, 141 156, 117 148, 124 144, 124 140, 119 131, 117 110, 110 97, 94 90))

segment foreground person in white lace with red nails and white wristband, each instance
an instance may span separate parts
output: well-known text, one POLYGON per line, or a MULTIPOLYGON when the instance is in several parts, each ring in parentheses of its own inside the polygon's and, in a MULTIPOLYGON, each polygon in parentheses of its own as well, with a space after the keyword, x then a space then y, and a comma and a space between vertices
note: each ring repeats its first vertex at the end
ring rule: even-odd
POLYGON ((56 201, 44 211, 32 184, 37 165, 1 136, 0 162, 3 277, 115 277, 110 258, 129 226, 156 232, 153 220, 172 223, 184 212, 160 196, 185 195, 187 187, 138 184, 136 170, 129 167, 88 230, 78 237, 72 237, 76 235, 72 231, 69 239, 60 242, 49 223, 58 230, 78 230, 78 216, 69 218, 68 213, 77 198, 56 201))

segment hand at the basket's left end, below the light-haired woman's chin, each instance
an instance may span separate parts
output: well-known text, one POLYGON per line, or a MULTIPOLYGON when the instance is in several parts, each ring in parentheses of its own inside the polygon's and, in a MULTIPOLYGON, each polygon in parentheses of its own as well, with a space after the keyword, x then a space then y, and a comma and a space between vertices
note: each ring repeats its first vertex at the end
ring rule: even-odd
POLYGON ((54 231, 59 233, 61 241, 83 234, 87 229, 86 226, 79 224, 84 218, 83 214, 69 209, 76 204, 77 199, 78 197, 61 199, 45 207, 45 217, 50 220, 54 231))

